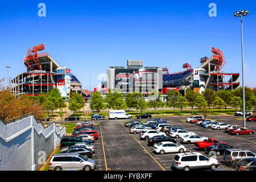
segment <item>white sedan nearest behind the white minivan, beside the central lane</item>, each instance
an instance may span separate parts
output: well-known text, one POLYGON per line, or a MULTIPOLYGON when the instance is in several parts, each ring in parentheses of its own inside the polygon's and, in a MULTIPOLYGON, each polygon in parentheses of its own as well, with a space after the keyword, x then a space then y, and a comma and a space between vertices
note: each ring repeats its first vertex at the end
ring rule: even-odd
POLYGON ((160 142, 158 144, 154 144, 153 151, 158 154, 164 154, 168 152, 183 153, 186 151, 186 147, 172 142, 160 142))

